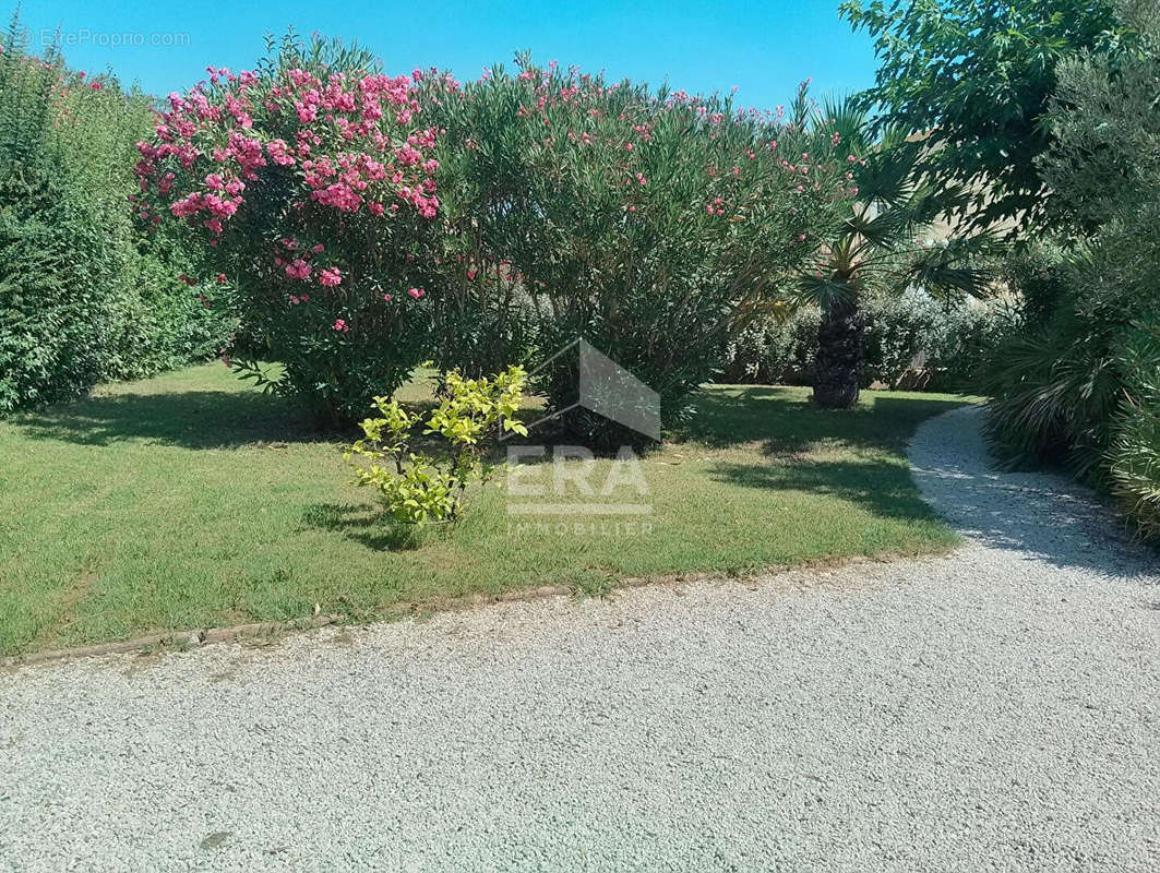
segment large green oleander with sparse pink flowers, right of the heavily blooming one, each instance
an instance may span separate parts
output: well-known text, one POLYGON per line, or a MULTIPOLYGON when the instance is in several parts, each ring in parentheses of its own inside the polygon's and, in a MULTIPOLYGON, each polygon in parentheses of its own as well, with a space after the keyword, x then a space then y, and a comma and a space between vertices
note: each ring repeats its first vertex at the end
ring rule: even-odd
MULTIPOLYGON (((486 354, 457 333, 447 363, 524 359, 528 336, 539 363, 582 336, 661 394, 667 422, 848 195, 846 146, 804 89, 790 116, 766 117, 521 57, 425 103, 447 131, 452 299, 484 325, 517 323, 516 306, 530 318, 486 354)), ((543 379, 556 408, 575 391, 566 358, 543 379)))

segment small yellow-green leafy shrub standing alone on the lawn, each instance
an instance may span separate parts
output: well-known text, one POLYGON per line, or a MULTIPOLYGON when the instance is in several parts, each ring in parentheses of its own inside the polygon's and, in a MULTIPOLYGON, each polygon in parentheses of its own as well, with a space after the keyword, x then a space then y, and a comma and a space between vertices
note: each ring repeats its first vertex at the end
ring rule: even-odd
POLYGON ((378 489, 394 522, 458 521, 467 486, 487 481, 495 471, 486 460, 493 443, 505 434, 528 434, 516 419, 527 380, 527 372, 515 365, 491 378, 447 373, 443 398, 422 430, 445 444, 437 457, 412 448, 418 415, 396 400, 375 398, 379 417, 362 421, 363 438, 343 456, 348 461, 358 458, 356 482, 378 489))

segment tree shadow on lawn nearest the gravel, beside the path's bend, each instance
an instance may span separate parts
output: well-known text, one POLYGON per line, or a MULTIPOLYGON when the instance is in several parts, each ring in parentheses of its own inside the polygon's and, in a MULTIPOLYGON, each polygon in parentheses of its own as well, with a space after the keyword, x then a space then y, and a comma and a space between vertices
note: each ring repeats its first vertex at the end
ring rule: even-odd
POLYGON ((720 464, 712 475, 716 481, 749 488, 832 495, 880 518, 940 521, 938 514, 919 495, 907 467, 884 460, 720 464))

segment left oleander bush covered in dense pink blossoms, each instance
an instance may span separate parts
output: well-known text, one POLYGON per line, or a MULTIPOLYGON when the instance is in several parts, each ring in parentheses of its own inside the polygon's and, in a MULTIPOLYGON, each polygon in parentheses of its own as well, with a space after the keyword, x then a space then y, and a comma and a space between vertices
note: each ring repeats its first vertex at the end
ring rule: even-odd
POLYGON ((225 278, 246 328, 230 363, 349 422, 430 355, 437 130, 419 73, 321 37, 269 51, 168 96, 138 144, 137 214, 183 225, 225 278))

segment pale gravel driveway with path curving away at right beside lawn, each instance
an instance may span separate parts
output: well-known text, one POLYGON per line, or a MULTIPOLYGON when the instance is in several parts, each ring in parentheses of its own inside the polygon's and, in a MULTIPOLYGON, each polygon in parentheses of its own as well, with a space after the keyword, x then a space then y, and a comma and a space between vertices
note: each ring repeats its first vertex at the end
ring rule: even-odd
POLYGON ((1155 871, 1155 554, 978 424, 950 558, 0 675, 0 870, 1155 871))

